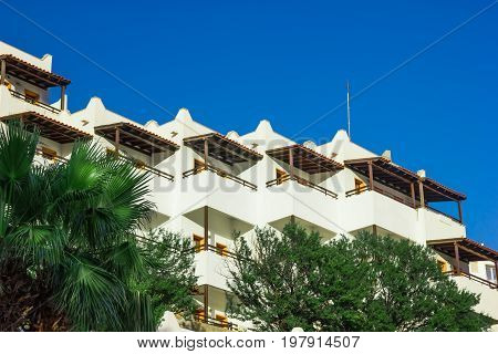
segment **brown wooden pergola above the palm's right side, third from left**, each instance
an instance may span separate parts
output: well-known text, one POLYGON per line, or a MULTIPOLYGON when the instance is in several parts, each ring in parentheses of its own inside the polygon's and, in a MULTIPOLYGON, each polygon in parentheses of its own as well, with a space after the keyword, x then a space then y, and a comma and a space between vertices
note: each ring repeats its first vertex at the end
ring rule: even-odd
POLYGON ((177 144, 128 122, 96 126, 95 134, 114 142, 116 153, 120 146, 129 147, 147 156, 155 153, 174 153, 179 148, 177 144))

